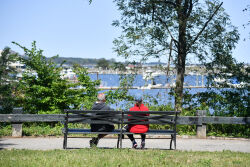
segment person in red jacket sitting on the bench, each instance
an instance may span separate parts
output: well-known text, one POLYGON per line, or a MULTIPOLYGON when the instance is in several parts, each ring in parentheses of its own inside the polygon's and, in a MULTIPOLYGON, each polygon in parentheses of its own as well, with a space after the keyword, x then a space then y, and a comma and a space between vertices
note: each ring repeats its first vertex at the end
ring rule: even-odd
MULTIPOLYGON (((144 106, 144 104, 142 103, 142 98, 135 99, 135 102, 136 103, 135 103, 134 107, 130 108, 129 111, 148 111, 148 108, 146 106, 144 106)), ((142 115, 149 116, 149 114, 142 114, 142 115)), ((131 115, 128 115, 128 116, 131 116, 131 115)), ((128 125, 129 132, 141 134, 141 149, 143 149, 145 147, 146 135, 143 133, 146 133, 148 131, 148 129, 149 129, 148 124, 129 124, 128 125)), ((134 136, 132 134, 128 134, 128 137, 132 142, 132 148, 136 148, 137 143, 135 141, 134 136)))

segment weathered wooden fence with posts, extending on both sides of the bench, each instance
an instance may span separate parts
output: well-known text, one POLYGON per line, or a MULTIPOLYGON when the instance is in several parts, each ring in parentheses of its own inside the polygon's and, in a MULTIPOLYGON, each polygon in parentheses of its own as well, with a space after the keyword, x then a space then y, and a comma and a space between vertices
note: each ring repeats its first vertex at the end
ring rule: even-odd
MULTIPOLYGON (((0 122, 12 123, 12 136, 22 136, 23 122, 63 122, 64 114, 0 114, 0 122)), ((70 122, 70 120, 69 120, 70 122)), ((197 116, 178 116, 178 125, 196 125, 197 137, 206 138, 206 124, 250 124, 250 117, 206 116, 206 111, 198 111, 197 116)))

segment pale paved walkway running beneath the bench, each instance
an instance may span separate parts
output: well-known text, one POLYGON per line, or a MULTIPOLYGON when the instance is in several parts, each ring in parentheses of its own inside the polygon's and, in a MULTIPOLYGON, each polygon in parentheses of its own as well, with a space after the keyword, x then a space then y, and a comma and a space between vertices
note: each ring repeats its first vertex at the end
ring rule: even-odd
MULTIPOLYGON (((68 147, 73 149, 89 148, 90 138, 69 138, 68 147)), ((140 139, 136 139, 140 145, 140 139)), ((169 149, 169 139, 146 139, 146 149, 169 149)), ((101 139, 98 147, 116 148, 117 139, 101 139)), ((52 150, 62 149, 63 138, 0 138, 0 149, 30 149, 30 150, 52 150)), ((123 140, 123 148, 131 148, 128 139, 123 140)), ((188 151, 239 151, 250 153, 250 139, 185 139, 177 138, 177 150, 188 151)))

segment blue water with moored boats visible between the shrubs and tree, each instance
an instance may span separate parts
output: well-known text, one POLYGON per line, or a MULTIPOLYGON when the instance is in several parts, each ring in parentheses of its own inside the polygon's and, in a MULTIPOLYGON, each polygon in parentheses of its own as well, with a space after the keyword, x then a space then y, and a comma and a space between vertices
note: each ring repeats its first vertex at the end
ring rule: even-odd
MULTIPOLYGON (((96 74, 89 74, 90 78, 92 80, 98 79, 101 80, 101 86, 103 87, 114 87, 119 86, 119 75, 117 74, 99 74, 98 76, 96 74)), ((184 84, 186 86, 201 86, 202 84, 206 84, 206 77, 201 75, 187 75, 184 78, 184 84), (203 81, 202 81, 203 80, 203 81)), ((145 80, 143 79, 142 75, 136 75, 134 79, 133 86, 136 87, 143 87, 148 84, 151 84, 152 80, 145 80)), ((166 75, 159 75, 154 77, 154 84, 174 84, 175 83, 175 76, 166 77, 166 75)), ((103 90, 101 92, 105 92, 108 90, 103 90)), ((157 99, 158 104, 168 104, 168 103, 174 103, 173 97, 169 96, 170 89, 131 89, 129 90, 129 94, 132 96, 143 96, 145 97, 145 100, 147 103, 150 102, 150 97, 154 97, 157 99)), ((204 92, 206 91, 206 88, 191 88, 189 89, 189 92, 191 94, 197 93, 197 92, 204 92)), ((115 109, 127 109, 128 107, 131 107, 133 104, 128 104, 127 102, 123 101, 119 104, 112 104, 111 107, 115 109)))

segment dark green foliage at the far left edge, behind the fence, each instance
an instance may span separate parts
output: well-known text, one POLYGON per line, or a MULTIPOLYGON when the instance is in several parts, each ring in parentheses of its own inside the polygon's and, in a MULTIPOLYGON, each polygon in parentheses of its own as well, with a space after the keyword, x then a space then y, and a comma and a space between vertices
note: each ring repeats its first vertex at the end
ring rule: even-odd
POLYGON ((17 54, 6 47, 0 55, 0 113, 11 113, 15 104, 16 69, 10 64, 17 59, 17 54))

